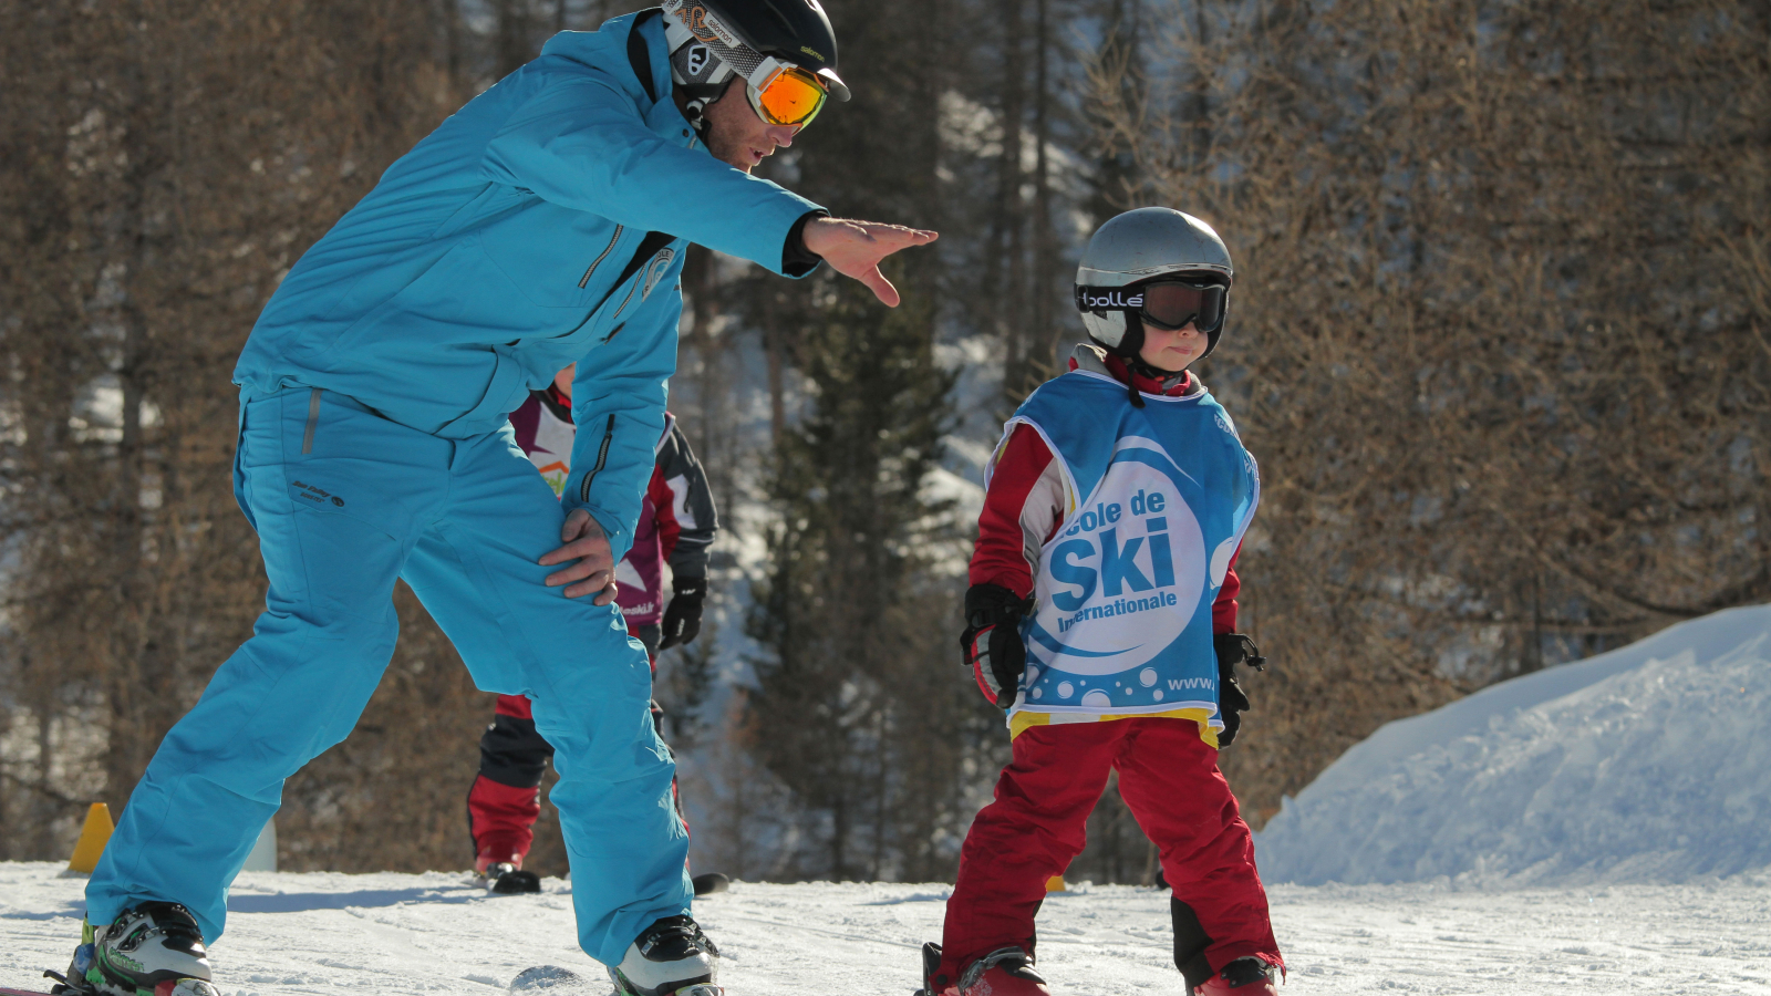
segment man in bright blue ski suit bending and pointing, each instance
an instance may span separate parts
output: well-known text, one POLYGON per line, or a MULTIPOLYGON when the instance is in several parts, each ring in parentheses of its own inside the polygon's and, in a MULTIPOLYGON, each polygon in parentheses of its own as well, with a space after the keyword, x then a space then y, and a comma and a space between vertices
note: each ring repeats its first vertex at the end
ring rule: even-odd
POLYGON ((664 431, 687 243, 786 276, 824 261, 896 305, 880 259, 935 239, 749 175, 829 96, 848 90, 816 0, 669 0, 563 32, 289 271, 234 372, 266 611, 129 798, 71 989, 216 994, 228 883, 283 780, 368 704, 404 578, 482 689, 533 700, 584 952, 630 994, 719 992, 613 569, 664 431), (507 415, 572 362, 556 500, 507 415))

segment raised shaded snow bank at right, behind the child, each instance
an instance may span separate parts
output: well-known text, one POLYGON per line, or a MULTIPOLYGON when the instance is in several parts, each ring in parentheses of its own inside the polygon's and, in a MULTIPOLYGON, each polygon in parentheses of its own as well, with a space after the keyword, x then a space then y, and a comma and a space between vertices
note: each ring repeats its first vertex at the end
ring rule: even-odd
MULTIPOLYGON (((1771 865, 1771 606, 1388 723, 1256 836, 1268 883, 1682 883, 1771 865)), ((1767 932, 1771 938, 1771 932, 1767 932)))

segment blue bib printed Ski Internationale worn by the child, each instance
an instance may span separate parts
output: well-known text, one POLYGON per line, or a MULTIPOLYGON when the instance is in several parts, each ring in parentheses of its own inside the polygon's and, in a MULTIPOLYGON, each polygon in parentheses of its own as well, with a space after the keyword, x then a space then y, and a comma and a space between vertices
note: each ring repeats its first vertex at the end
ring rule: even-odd
POLYGON ((1229 415, 1206 392, 1133 408, 1125 385, 1071 370, 1017 424, 1063 466, 1064 519, 1040 551, 1009 728, 1178 716, 1215 743, 1211 604, 1261 498, 1229 415))

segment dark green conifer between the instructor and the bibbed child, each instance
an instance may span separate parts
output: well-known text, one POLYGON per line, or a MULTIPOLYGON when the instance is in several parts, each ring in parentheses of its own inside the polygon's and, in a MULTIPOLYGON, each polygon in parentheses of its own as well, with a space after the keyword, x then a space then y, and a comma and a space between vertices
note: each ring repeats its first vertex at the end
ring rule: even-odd
POLYGON ((933 362, 926 296, 887 312, 852 282, 827 292, 799 342, 811 411, 776 450, 781 523, 751 624, 769 658, 751 709, 765 764, 822 824, 822 854, 800 870, 880 877, 928 865, 926 835, 901 833, 898 815, 955 782, 907 771, 953 737, 940 727, 955 684, 926 691, 953 658, 953 588, 930 556, 947 509, 923 494, 951 379, 933 362))

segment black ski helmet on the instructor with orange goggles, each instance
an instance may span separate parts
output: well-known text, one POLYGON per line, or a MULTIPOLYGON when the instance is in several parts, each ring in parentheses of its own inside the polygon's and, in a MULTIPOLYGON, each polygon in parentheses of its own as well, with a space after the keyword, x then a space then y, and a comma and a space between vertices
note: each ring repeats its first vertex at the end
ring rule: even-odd
POLYGON ((749 80, 769 57, 848 99, 836 74, 836 32, 818 0, 664 0, 664 28, 677 85, 691 101, 717 97, 731 74, 749 80))

